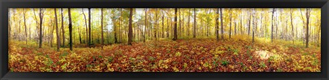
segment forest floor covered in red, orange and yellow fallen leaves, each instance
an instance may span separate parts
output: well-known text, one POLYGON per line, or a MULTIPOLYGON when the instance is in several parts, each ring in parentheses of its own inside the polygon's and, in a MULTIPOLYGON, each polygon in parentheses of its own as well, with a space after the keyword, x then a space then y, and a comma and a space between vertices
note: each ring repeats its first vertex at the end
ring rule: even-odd
POLYGON ((236 36, 158 40, 97 48, 9 44, 12 72, 320 72, 321 47, 236 36))

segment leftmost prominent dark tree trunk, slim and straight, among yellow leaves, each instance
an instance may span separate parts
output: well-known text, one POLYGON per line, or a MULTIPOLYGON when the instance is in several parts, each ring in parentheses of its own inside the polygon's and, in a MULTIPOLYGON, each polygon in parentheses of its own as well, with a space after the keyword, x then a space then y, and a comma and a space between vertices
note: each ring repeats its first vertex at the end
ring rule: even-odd
POLYGON ((42 18, 43 18, 43 9, 39 9, 39 18, 40 18, 40 33, 39 33, 39 48, 42 48, 42 18))

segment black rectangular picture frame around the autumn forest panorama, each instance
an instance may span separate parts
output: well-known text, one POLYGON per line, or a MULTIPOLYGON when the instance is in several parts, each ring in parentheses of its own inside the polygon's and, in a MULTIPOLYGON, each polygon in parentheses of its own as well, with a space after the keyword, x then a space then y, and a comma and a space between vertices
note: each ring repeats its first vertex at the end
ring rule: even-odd
POLYGON ((1 0, 2 79, 328 79, 327 0, 1 0), (321 72, 8 72, 8 8, 321 8, 321 72))

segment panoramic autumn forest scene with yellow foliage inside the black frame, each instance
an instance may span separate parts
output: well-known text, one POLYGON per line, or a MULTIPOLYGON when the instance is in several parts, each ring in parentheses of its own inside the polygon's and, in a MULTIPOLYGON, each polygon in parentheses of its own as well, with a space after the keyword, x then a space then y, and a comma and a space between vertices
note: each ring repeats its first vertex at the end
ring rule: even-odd
POLYGON ((320 72, 320 8, 10 8, 11 72, 320 72))

